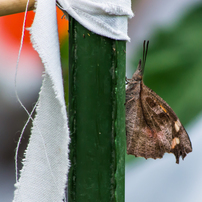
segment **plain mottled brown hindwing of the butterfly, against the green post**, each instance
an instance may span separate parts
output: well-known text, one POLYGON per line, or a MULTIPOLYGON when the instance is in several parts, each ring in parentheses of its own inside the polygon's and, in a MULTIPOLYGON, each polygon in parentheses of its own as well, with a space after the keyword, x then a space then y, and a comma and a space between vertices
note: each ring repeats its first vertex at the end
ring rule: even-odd
POLYGON ((126 90, 126 98, 130 98, 126 100, 127 152, 145 158, 162 158, 165 152, 170 151, 171 140, 161 130, 158 115, 144 101, 147 88, 141 85, 139 83, 133 88, 139 92, 138 99, 130 98, 130 91, 126 90))

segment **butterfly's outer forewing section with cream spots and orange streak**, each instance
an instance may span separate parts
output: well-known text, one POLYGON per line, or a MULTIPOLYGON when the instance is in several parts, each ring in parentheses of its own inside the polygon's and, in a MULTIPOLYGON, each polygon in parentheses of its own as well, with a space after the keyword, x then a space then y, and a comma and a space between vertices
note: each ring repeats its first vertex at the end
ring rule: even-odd
MULTIPOLYGON (((189 136, 171 107, 147 86, 142 89, 143 109, 147 111, 150 109, 151 115, 147 117, 152 122, 157 123, 157 130, 160 129, 164 134, 163 137, 169 142, 170 151, 166 149, 165 152, 173 153, 176 157, 176 162, 179 163, 180 156, 184 159, 186 154, 192 151, 189 136), (151 118, 151 116, 153 117, 151 118)), ((167 141, 164 142, 166 143, 167 141)))

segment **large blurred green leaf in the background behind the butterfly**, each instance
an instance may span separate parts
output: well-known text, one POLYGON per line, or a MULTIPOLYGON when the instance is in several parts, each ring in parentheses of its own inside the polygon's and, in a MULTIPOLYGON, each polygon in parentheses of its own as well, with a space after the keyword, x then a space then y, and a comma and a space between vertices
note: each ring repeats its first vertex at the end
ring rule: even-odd
MULTIPOLYGON (((144 83, 175 111, 182 124, 202 111, 202 6, 171 29, 158 30, 150 40, 144 83)), ((142 58, 142 46, 134 71, 142 58)), ((127 155, 126 161, 134 160, 127 155)), ((142 158, 136 158, 142 159, 142 158)))

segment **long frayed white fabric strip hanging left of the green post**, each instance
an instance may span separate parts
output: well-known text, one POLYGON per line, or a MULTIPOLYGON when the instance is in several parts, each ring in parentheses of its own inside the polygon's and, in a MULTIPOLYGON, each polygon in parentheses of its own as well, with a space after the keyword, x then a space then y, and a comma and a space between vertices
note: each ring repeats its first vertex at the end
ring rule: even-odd
POLYGON ((13 201, 59 202, 67 181, 69 132, 54 0, 38 0, 30 32, 45 73, 13 201))

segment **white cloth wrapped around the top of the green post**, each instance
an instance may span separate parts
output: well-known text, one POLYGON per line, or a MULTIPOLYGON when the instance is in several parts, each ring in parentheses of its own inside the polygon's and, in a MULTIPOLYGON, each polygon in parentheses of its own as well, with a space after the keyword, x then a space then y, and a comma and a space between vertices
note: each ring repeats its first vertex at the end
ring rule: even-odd
POLYGON ((133 17, 131 0, 58 0, 63 10, 96 34, 130 40, 128 18, 133 17))

